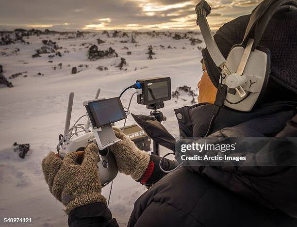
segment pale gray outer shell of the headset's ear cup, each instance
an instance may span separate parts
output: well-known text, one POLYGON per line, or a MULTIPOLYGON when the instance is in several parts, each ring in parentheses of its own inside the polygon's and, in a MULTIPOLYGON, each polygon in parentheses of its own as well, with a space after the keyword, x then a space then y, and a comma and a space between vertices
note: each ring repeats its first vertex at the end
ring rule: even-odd
MULTIPOLYGON (((244 47, 238 45, 231 49, 226 65, 232 73, 236 72, 244 50, 244 47)), ((270 75, 270 62, 269 49, 259 47, 251 51, 243 72, 246 81, 242 87, 246 92, 246 96, 240 97, 237 93, 234 93, 233 89, 229 89, 224 105, 238 111, 251 111, 267 86, 270 75)), ((227 78, 223 79, 222 83, 227 85, 226 80, 227 78)))

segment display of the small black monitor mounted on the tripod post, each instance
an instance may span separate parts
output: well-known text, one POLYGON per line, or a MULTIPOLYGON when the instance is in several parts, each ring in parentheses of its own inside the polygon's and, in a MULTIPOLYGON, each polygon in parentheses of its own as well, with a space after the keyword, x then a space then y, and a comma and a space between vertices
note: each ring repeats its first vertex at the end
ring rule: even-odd
POLYGON ((168 97, 168 82, 148 83, 148 101, 168 97))

